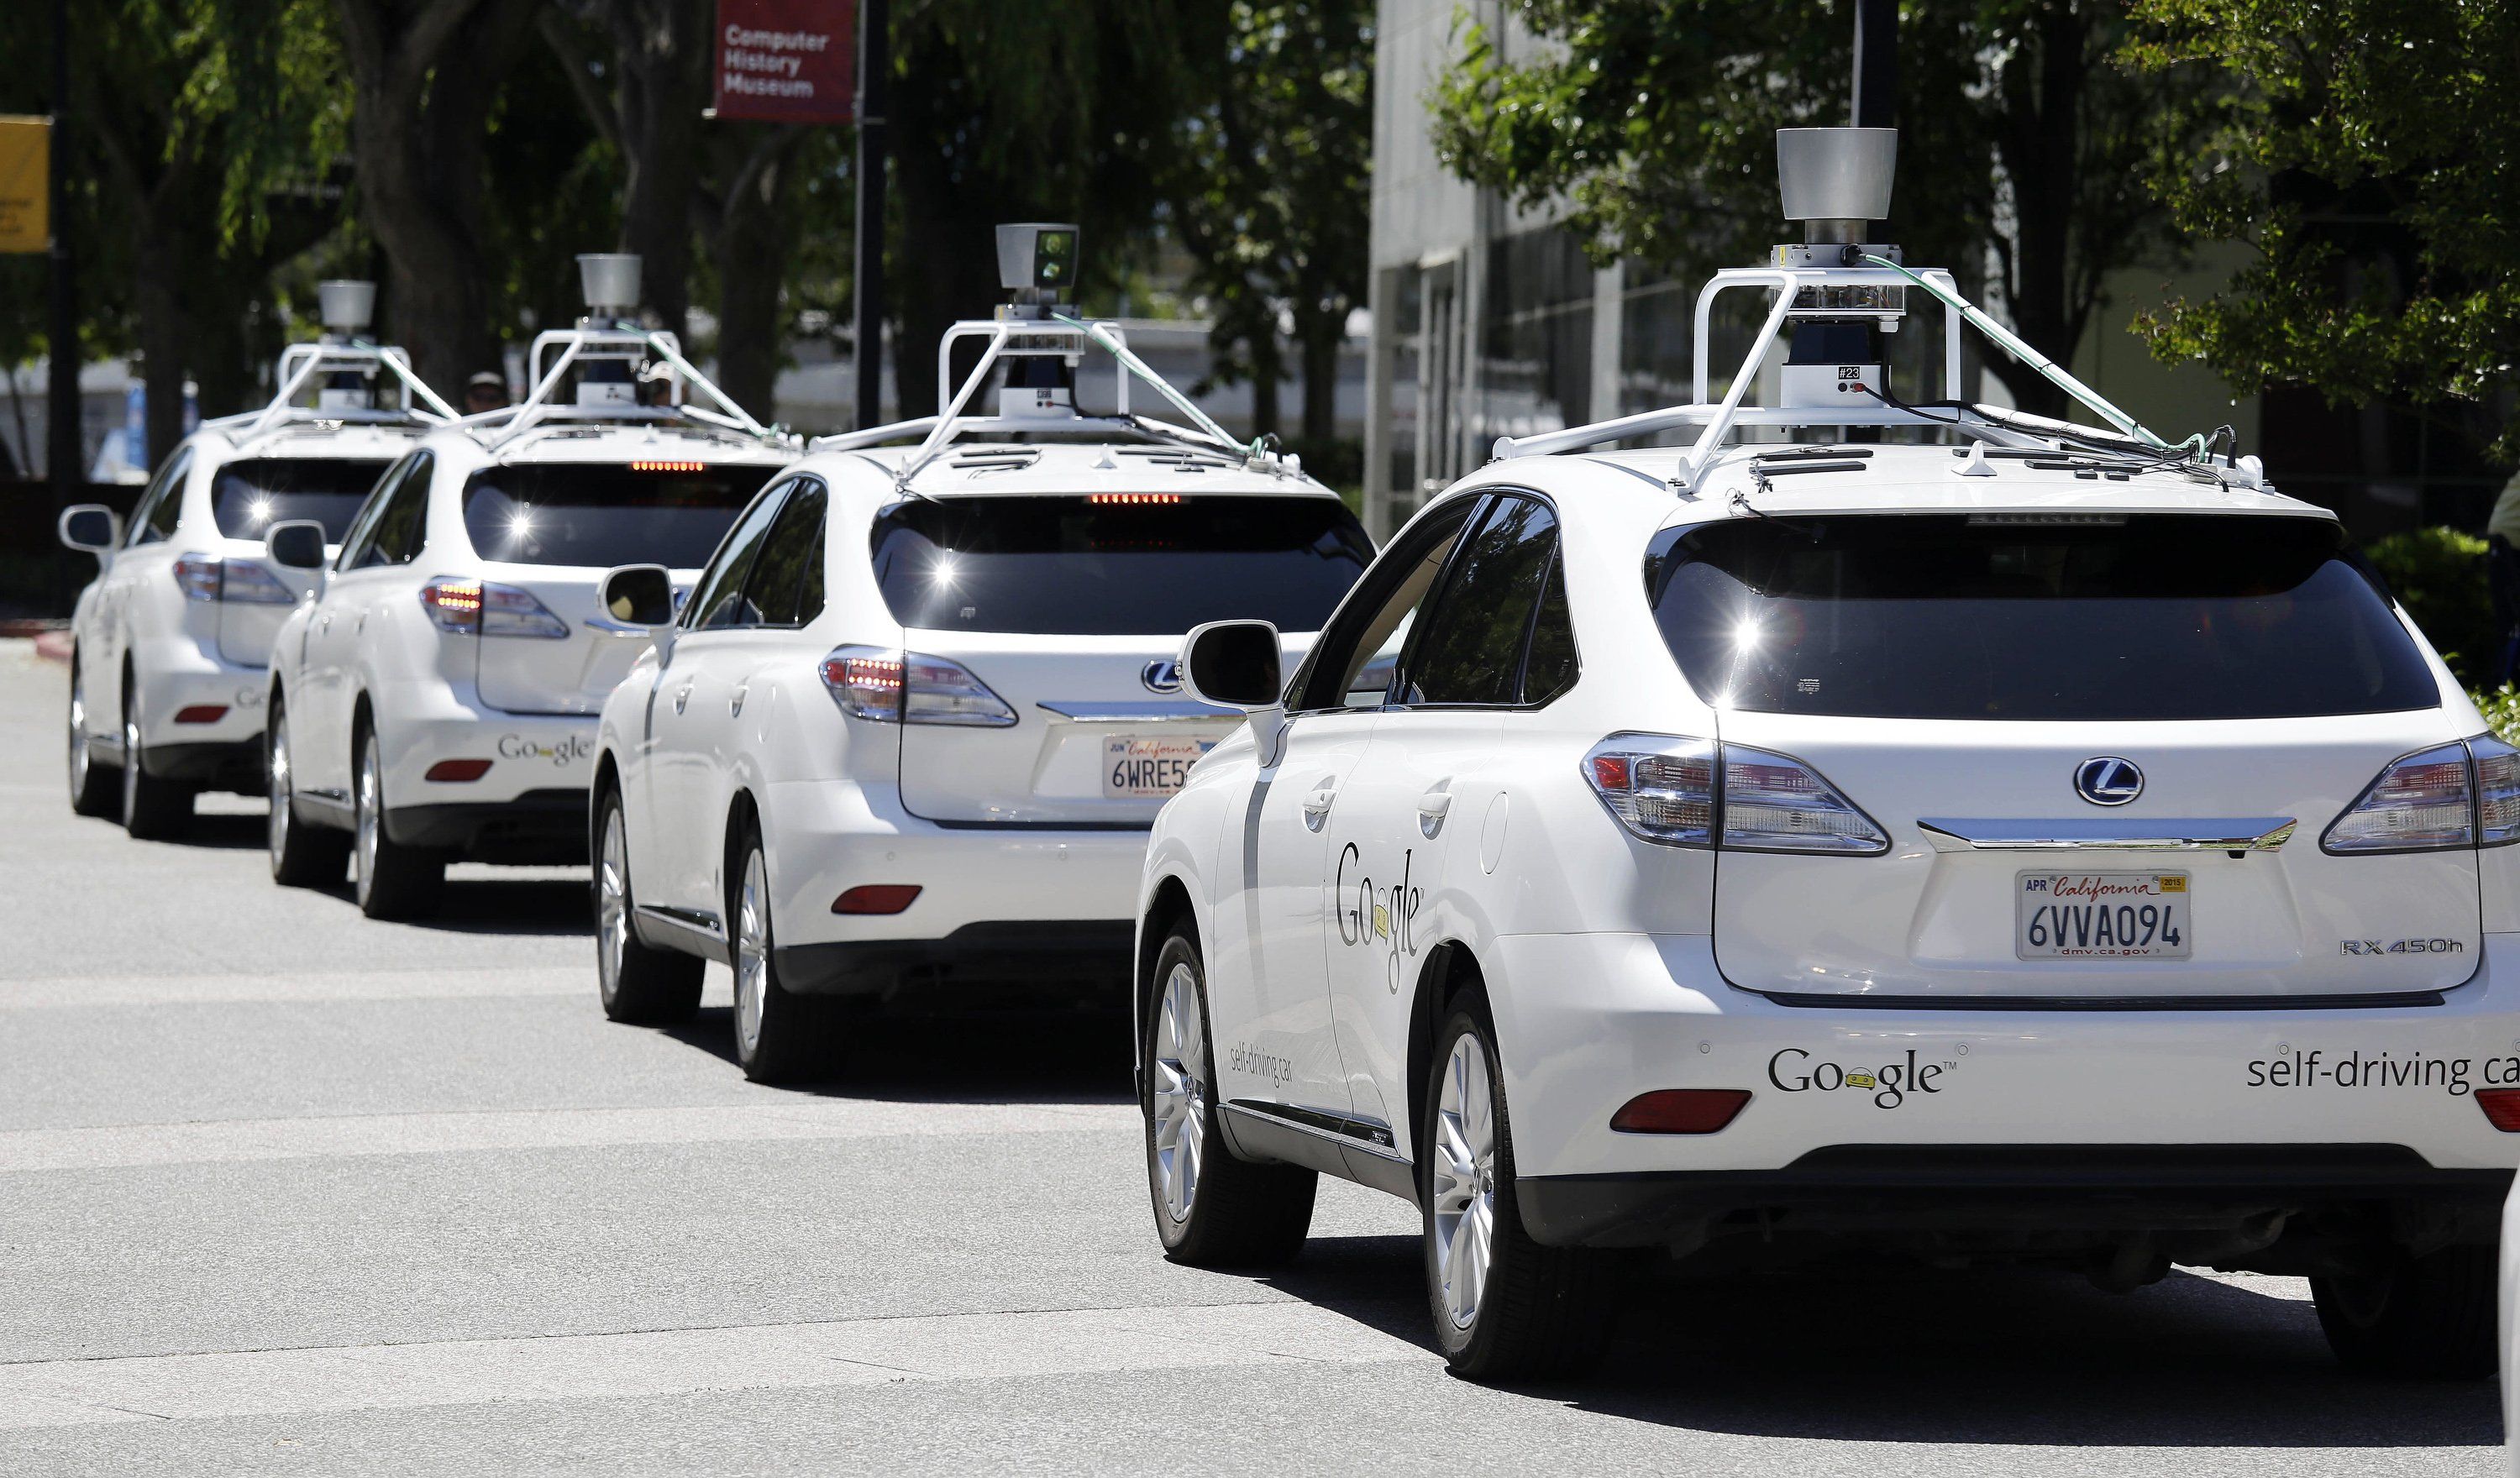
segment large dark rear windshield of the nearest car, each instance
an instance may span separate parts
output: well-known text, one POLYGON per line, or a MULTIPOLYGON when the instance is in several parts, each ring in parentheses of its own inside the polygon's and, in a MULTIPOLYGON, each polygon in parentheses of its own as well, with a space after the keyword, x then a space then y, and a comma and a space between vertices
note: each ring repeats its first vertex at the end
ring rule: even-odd
POLYGON ((1862 718, 2311 718, 2439 705, 2326 519, 1872 514, 1666 529, 1706 702, 1862 718))

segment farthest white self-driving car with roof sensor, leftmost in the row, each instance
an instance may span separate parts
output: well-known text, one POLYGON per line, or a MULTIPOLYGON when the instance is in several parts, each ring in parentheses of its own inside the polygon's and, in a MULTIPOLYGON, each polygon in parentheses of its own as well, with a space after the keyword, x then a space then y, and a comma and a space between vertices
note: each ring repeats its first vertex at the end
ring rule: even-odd
POLYGON ((265 536, 310 521, 340 541, 378 473, 456 415, 401 350, 355 337, 373 295, 368 282, 325 282, 325 340, 282 355, 267 408, 176 443, 129 531, 101 506, 63 514, 63 541, 101 561, 71 617, 68 768, 81 816, 171 836, 192 821, 197 791, 262 793, 272 637, 312 587, 265 559, 265 536), (398 383, 403 408, 375 408, 378 378, 398 383))

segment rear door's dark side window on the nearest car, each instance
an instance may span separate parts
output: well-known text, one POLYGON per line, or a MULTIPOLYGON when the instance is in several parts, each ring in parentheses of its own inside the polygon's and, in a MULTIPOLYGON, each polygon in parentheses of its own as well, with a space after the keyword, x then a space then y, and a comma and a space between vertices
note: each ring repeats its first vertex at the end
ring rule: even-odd
POLYGON ((1555 554, 1557 516, 1547 504, 1497 499, 1401 657, 1401 702, 1520 702, 1522 652, 1555 554))

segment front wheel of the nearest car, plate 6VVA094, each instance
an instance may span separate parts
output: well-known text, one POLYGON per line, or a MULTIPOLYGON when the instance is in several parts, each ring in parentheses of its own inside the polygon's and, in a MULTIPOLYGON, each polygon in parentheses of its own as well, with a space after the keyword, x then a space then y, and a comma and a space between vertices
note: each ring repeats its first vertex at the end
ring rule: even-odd
POLYGON ((1139 1050, 1147 1085, 1147 1196, 1164 1256, 1189 1266, 1275 1266, 1303 1251, 1320 1173, 1235 1158, 1217 1133, 1217 1060, 1200 944, 1174 932, 1154 957, 1139 1050))

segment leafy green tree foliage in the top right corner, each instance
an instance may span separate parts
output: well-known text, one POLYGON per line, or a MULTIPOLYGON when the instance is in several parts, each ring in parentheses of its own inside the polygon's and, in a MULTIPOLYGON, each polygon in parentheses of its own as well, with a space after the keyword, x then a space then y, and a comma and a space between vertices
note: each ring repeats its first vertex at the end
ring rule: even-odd
POLYGON ((2142 320, 2235 390, 2394 403, 2520 461, 2520 8, 2502 0, 2137 0, 2147 68, 2238 91, 2152 174, 2182 229, 2243 242, 2223 292, 2142 320))

